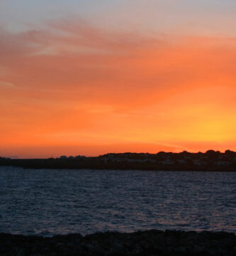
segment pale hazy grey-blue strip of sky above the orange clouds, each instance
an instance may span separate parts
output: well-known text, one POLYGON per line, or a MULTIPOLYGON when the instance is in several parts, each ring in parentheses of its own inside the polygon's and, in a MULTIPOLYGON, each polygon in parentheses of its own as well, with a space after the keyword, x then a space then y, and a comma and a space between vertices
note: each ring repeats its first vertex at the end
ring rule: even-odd
POLYGON ((48 20, 84 18, 96 26, 162 33, 235 35, 233 0, 1 0, 1 26, 18 31, 48 20))

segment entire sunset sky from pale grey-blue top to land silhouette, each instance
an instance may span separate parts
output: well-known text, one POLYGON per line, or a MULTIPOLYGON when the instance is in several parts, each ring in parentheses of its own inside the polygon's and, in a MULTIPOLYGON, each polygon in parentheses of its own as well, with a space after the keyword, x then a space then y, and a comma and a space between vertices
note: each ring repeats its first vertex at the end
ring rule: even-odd
POLYGON ((236 1, 0 0, 0 156, 236 150, 236 1))

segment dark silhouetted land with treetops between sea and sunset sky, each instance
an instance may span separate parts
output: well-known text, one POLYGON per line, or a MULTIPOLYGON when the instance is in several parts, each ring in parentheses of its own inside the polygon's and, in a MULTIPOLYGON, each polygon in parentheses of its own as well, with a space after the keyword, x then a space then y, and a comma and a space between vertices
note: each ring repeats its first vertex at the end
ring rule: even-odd
POLYGON ((106 169, 147 171, 236 171, 236 152, 208 150, 206 153, 159 152, 105 154, 102 156, 60 156, 50 159, 7 159, 0 166, 27 169, 106 169))

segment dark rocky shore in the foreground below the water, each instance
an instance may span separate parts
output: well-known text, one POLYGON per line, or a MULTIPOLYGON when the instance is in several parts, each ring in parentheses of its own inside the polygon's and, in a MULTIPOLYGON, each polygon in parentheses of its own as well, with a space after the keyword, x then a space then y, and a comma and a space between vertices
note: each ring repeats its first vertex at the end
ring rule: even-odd
POLYGON ((236 255, 233 233, 148 230, 135 233, 55 235, 52 238, 0 234, 0 255, 236 255))

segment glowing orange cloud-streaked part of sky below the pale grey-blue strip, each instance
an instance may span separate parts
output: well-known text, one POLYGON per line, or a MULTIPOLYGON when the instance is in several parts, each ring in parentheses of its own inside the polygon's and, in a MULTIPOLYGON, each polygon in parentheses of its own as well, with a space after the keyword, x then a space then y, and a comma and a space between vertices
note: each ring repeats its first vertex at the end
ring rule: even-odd
POLYGON ((236 150, 236 38, 0 30, 0 156, 236 150))

